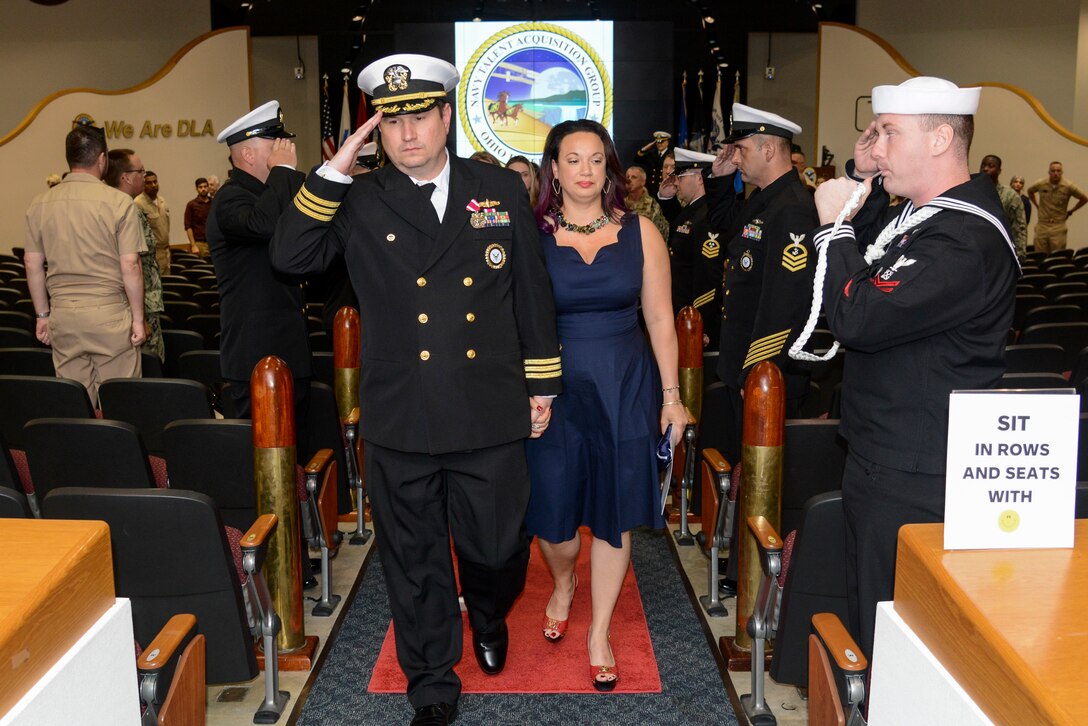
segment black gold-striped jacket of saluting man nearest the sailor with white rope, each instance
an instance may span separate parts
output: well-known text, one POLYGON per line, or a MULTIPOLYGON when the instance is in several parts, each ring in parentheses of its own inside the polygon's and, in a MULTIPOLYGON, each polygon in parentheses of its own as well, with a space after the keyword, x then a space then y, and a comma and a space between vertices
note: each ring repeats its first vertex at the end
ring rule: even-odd
POLYGON ((726 293, 718 377, 743 390, 749 371, 771 360, 786 379, 786 395, 808 391, 808 366, 787 355, 808 318, 819 223, 813 195, 790 169, 739 201, 733 175, 707 180, 710 224, 725 232, 726 293))

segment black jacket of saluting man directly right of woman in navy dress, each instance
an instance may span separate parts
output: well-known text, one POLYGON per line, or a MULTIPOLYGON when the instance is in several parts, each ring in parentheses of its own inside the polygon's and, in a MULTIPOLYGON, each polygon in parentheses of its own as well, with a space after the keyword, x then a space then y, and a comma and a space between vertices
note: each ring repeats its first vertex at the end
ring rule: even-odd
POLYGON ((669 235, 672 266, 672 313, 687 306, 703 317, 708 348, 718 349, 721 328, 721 278, 725 273, 725 241, 710 229, 706 196, 691 202, 677 216, 669 235))

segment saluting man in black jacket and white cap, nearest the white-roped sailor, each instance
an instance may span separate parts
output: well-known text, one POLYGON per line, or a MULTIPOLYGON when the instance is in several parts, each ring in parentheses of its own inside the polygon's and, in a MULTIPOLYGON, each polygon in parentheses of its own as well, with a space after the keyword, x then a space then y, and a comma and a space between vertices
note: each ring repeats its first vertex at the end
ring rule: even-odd
MULTIPOLYGON (((808 394, 808 366, 791 360, 787 352, 801 332, 812 299, 816 250, 811 232, 817 218, 813 195, 790 158, 801 126, 743 103, 733 103, 731 115, 732 127, 715 159, 706 193, 710 225, 724 233, 727 258, 717 372, 729 390, 733 427, 722 442, 722 454, 739 460, 741 392, 757 364, 769 360, 782 372, 787 417, 801 415, 808 394), (741 201, 738 177, 758 192, 741 201)), ((740 540, 734 532, 732 541, 740 540)), ((726 594, 735 587, 738 559, 734 549, 726 570, 726 594)))

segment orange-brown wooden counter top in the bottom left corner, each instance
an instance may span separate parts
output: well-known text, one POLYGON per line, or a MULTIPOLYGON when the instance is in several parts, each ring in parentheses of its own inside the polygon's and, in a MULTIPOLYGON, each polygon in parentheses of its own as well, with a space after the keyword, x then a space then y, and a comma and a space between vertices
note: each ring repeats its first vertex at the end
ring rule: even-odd
POLYGON ((115 599, 106 522, 0 519, 0 553, 2 717, 115 599))

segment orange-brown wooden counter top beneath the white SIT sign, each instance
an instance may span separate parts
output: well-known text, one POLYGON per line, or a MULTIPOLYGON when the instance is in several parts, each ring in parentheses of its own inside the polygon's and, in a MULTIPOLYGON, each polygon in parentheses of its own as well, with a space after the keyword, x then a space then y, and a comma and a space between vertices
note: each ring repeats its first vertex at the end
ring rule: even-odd
POLYGON ((943 538, 943 525, 900 530, 895 613, 993 723, 1088 723, 1088 520, 1072 550, 945 551, 943 538))

